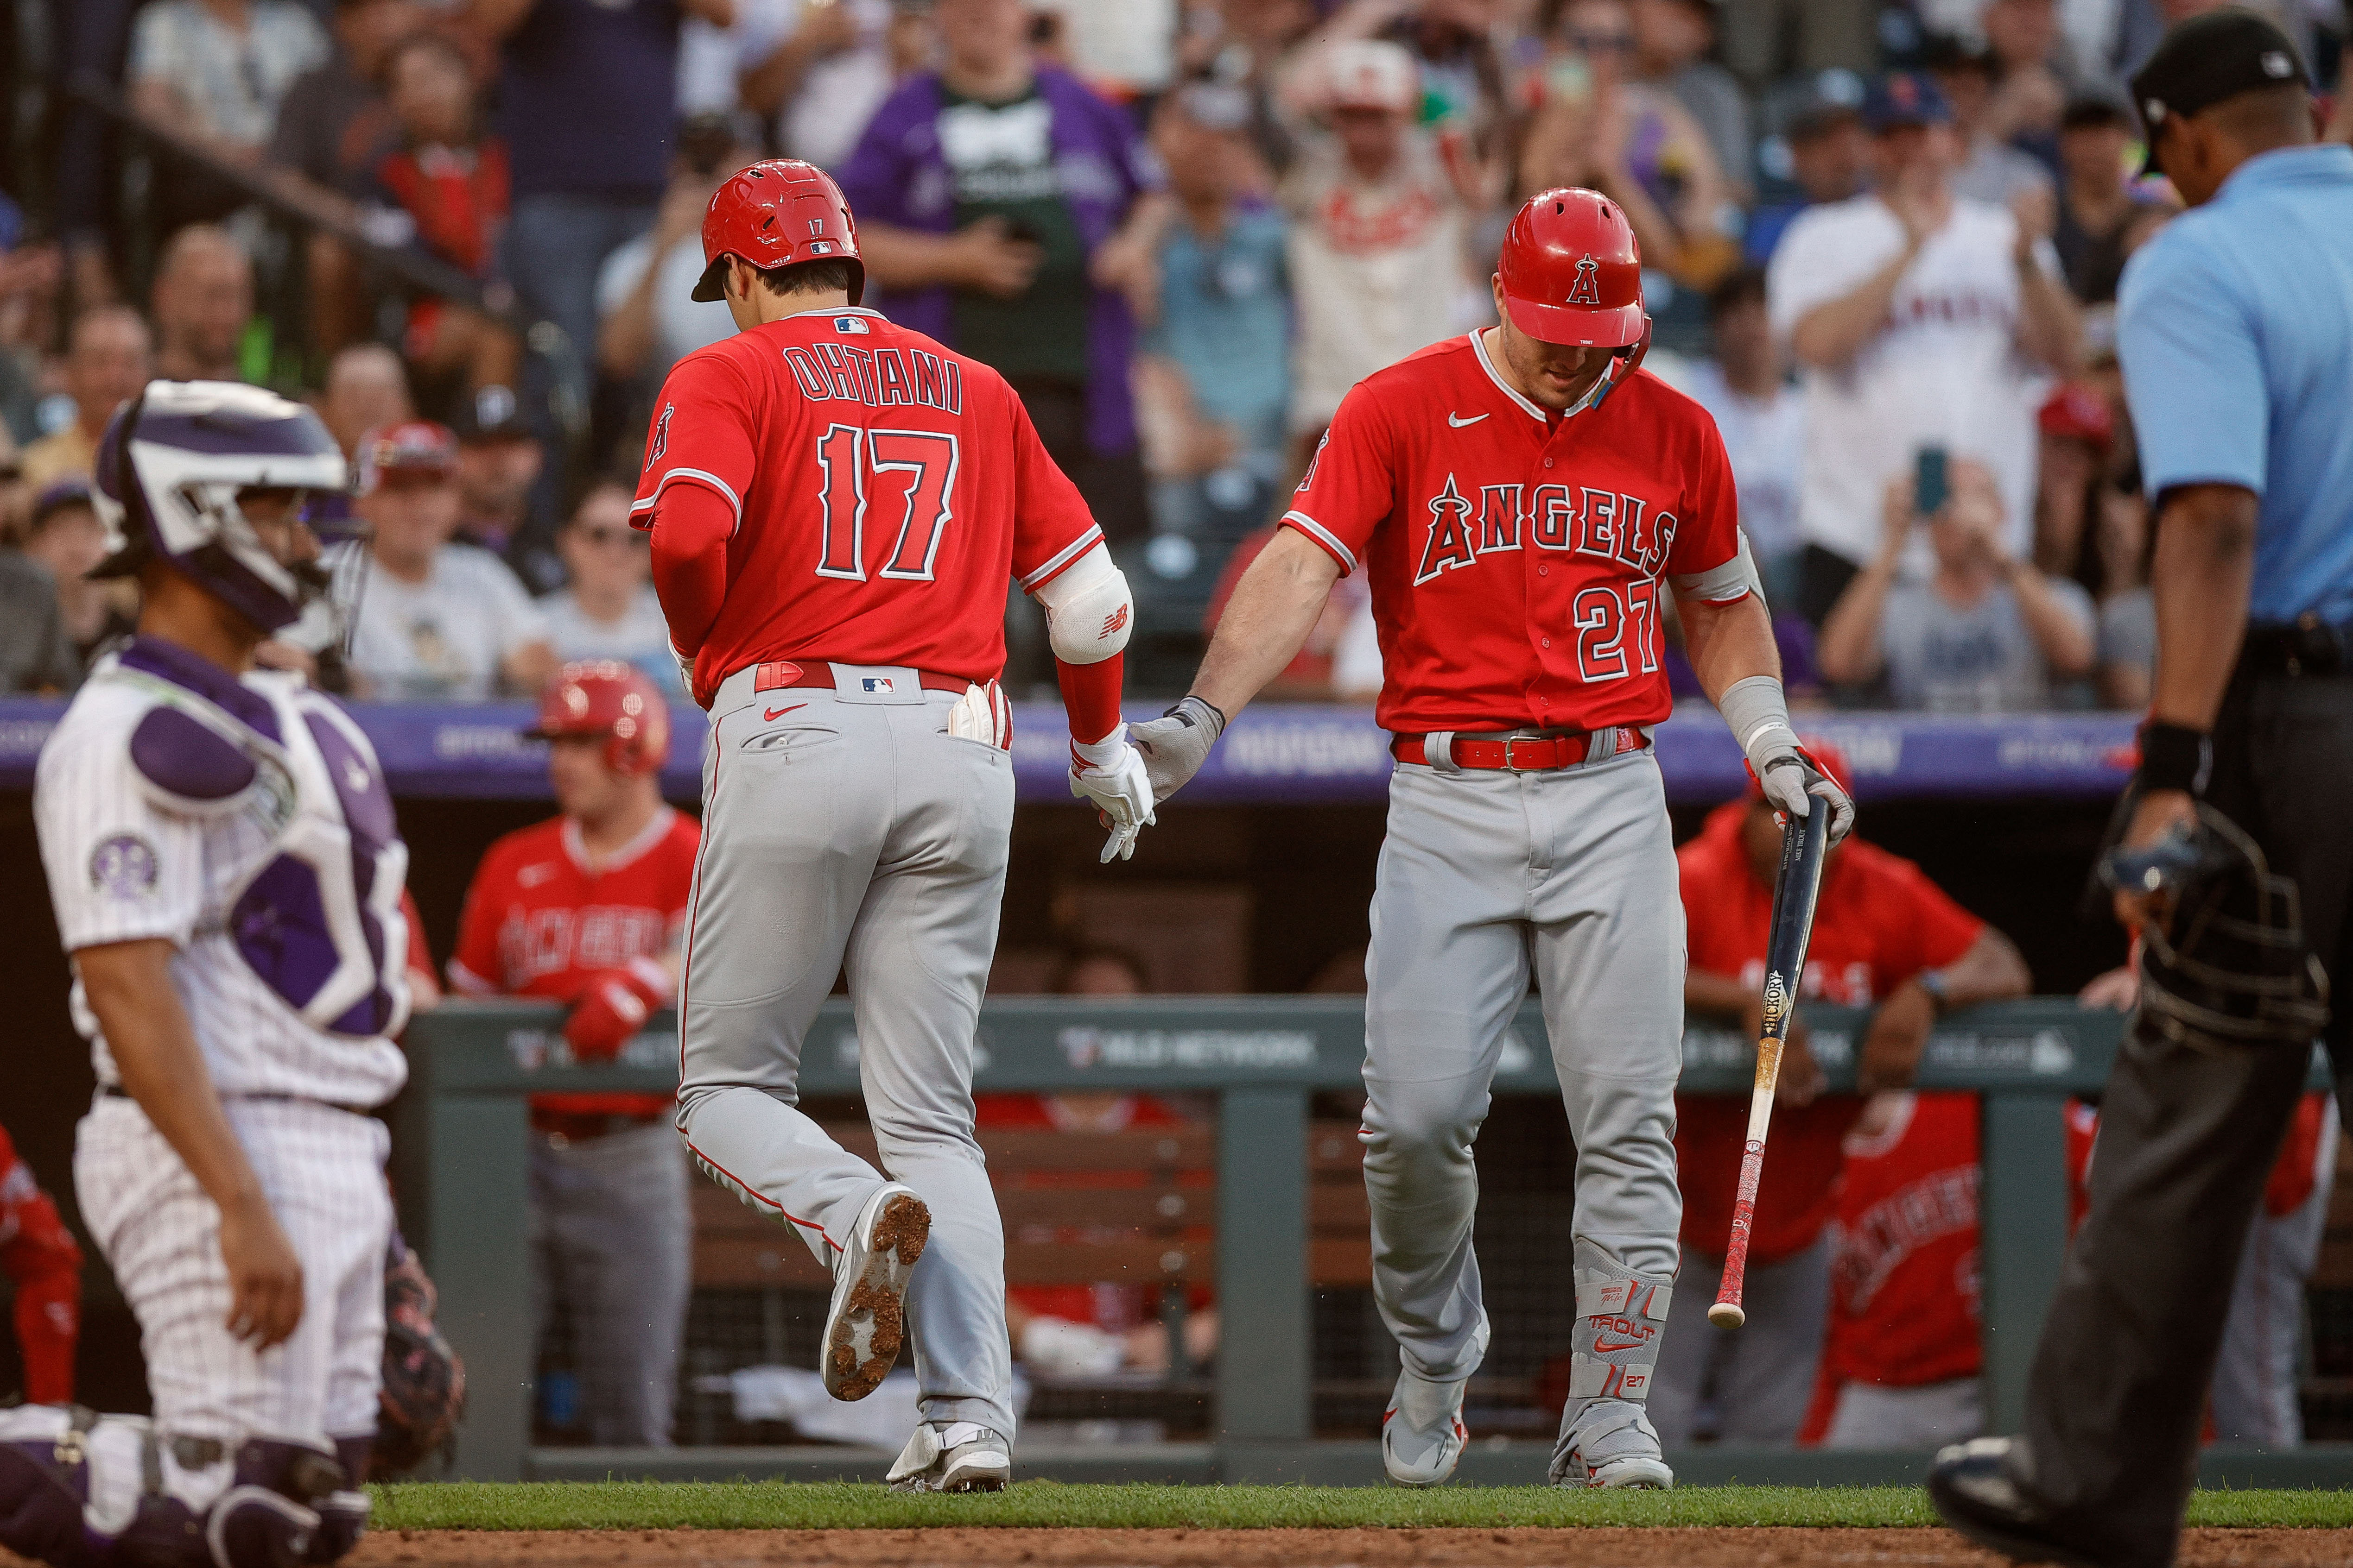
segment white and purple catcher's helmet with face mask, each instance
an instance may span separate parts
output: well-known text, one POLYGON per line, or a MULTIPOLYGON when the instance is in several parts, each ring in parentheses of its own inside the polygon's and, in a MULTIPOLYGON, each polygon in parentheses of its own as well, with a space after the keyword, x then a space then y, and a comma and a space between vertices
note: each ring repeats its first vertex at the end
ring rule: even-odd
POLYGON ((308 496, 341 491, 346 473, 344 451, 299 402, 235 381, 151 381, 99 440, 92 505, 106 557, 89 576, 162 562, 261 632, 325 649, 358 607, 365 527, 322 524, 308 496), (266 545, 240 501, 249 491, 294 491, 320 559, 289 562, 266 545))

